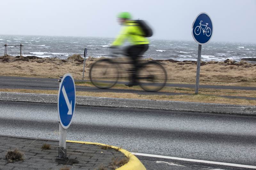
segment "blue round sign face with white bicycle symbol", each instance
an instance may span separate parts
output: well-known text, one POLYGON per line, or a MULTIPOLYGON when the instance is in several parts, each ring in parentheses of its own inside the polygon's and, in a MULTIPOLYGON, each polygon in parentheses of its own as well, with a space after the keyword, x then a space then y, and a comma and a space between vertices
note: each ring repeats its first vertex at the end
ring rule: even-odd
POLYGON ((211 17, 202 12, 197 15, 195 21, 192 24, 192 36, 194 40, 200 44, 206 44, 212 38, 213 25, 211 17))

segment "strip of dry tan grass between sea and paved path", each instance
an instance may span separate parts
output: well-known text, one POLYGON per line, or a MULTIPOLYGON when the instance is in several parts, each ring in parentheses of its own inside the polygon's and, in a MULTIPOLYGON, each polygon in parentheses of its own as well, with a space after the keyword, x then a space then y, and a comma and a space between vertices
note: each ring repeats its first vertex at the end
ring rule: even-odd
MULTIPOLYGON (((103 58, 103 57, 102 57, 103 58)), ((92 64, 100 58, 88 57, 85 61, 84 79, 89 80, 89 70, 92 64)), ((120 58, 128 61, 128 57, 120 58)), ((152 60, 152 59, 143 59, 152 60)), ((189 84, 196 81, 196 61, 156 60, 163 64, 167 72, 167 82, 189 84)), ((77 80, 83 77, 84 58, 74 54, 67 59, 41 58, 37 56, 0 56, 0 75, 21 77, 59 78, 65 73, 71 73, 77 80)), ((127 79, 125 71, 131 66, 122 65, 123 77, 127 79)), ((200 84, 255 86, 256 63, 247 61, 201 61, 200 84)))

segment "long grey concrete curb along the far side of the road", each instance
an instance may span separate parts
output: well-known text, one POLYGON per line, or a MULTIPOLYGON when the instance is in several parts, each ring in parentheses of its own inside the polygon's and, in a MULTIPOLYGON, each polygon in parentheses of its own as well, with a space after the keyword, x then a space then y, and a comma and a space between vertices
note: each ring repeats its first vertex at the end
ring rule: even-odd
MULTIPOLYGON (((58 95, 0 92, 0 101, 57 104, 58 95)), ((76 96, 76 105, 256 116, 256 106, 76 96)))

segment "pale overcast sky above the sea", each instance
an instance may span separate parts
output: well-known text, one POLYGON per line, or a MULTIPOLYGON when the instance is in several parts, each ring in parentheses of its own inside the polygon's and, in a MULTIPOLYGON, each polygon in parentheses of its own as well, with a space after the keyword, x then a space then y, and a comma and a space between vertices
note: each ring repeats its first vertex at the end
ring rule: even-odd
POLYGON ((153 38, 193 40, 200 12, 213 21, 211 41, 256 43, 256 0, 8 0, 1 1, 0 34, 115 37, 116 15, 131 12, 153 38))

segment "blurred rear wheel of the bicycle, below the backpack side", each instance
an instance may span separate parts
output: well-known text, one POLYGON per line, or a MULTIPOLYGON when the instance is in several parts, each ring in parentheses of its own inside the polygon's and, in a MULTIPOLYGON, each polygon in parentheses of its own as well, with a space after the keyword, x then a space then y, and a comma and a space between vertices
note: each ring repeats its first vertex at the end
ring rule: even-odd
POLYGON ((142 65, 138 74, 140 87, 145 91, 156 92, 161 90, 167 80, 164 67, 157 61, 148 61, 142 65))

